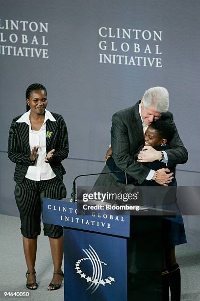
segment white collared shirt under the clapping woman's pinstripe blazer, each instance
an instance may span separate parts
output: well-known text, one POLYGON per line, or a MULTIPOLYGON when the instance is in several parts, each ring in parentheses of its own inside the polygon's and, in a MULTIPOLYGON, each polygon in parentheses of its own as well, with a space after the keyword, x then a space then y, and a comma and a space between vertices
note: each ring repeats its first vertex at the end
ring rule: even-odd
POLYGON ((55 178, 56 175, 52 171, 50 164, 45 162, 45 158, 47 156, 46 151, 46 121, 47 120, 56 121, 52 114, 45 110, 45 120, 39 131, 35 131, 31 129, 30 123, 30 110, 23 114, 20 119, 16 122, 25 122, 29 125, 29 145, 30 151, 33 149, 35 145, 39 145, 39 149, 37 152, 37 158, 34 165, 28 166, 25 178, 33 180, 33 181, 42 181, 42 180, 50 180, 55 178))

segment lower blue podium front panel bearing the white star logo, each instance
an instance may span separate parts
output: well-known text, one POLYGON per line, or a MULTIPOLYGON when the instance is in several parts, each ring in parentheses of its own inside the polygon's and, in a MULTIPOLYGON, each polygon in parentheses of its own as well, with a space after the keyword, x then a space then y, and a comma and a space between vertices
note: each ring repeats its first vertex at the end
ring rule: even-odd
POLYGON ((127 301, 126 239, 64 229, 65 301, 127 301))

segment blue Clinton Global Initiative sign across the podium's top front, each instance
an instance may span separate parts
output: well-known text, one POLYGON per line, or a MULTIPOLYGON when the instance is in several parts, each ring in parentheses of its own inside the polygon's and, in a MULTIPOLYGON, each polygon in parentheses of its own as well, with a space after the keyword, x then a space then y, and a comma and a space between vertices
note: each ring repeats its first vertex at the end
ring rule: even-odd
POLYGON ((130 216, 93 212, 78 215, 77 203, 43 199, 43 222, 86 231, 129 237, 130 216))

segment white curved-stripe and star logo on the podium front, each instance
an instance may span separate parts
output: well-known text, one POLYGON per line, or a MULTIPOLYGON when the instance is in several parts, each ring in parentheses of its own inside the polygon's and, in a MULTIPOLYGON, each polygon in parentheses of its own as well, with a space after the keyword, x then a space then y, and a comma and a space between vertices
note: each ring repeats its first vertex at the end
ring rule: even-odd
POLYGON ((102 279, 102 265, 107 266, 103 261, 100 261, 100 258, 95 251, 95 249, 89 244, 89 249, 82 249, 83 252, 87 255, 86 258, 81 258, 75 263, 76 273, 80 275, 80 278, 84 278, 89 283, 87 290, 91 290, 91 295, 95 293, 100 285, 105 286, 106 284, 112 285, 112 281, 115 282, 115 279, 111 276, 108 276, 106 279, 102 279), (91 276, 86 275, 80 269, 80 263, 84 260, 90 260, 93 274, 91 276))

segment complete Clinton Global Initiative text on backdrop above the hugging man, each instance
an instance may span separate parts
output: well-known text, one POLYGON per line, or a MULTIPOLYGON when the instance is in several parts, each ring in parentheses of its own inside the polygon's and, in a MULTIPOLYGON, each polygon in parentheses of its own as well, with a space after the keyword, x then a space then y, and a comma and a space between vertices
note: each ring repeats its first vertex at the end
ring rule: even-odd
POLYGON ((100 27, 99 36, 100 63, 162 68, 161 30, 100 27))

